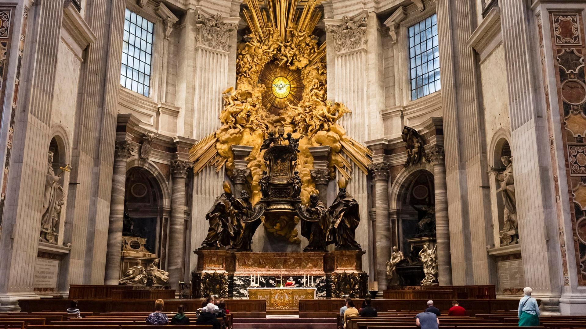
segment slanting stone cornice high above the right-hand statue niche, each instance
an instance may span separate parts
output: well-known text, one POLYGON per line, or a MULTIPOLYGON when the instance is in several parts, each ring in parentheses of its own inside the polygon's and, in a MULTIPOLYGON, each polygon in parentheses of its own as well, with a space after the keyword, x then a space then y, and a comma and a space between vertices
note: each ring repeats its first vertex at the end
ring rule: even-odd
POLYGON ((500 31, 500 8, 493 7, 466 44, 481 55, 482 61, 502 41, 500 31))

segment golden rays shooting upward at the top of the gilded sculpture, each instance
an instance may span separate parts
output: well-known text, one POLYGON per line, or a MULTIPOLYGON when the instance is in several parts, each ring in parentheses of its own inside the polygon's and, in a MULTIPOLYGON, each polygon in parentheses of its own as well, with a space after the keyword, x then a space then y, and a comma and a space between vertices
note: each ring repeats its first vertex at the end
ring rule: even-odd
MULTIPOLYGON (((253 33, 258 33, 261 40, 267 36, 266 30, 270 26, 277 29, 281 39, 288 36, 288 29, 295 29, 300 35, 311 35, 315 26, 322 18, 322 12, 315 7, 321 0, 265 0, 261 4, 258 0, 246 0, 247 9, 244 9, 244 20, 253 33)), ((298 35, 293 36, 294 43, 298 35)))

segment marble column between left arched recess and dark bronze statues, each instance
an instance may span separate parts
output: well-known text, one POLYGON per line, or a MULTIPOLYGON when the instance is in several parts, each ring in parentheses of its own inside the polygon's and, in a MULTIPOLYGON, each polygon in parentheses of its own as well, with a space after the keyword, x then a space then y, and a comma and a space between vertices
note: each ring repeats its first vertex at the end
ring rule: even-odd
POLYGON ((171 289, 179 291, 179 282, 185 281, 185 181, 193 162, 171 162, 173 191, 171 194, 171 218, 169 220, 169 249, 167 272, 171 289))

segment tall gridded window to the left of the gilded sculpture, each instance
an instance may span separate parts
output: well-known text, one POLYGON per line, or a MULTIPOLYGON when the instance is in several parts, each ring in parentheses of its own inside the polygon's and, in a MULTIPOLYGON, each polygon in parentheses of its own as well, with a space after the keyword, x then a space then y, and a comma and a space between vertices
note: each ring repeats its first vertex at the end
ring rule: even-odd
POLYGON ((153 23, 126 9, 120 84, 147 97, 151 86, 152 33, 153 23))

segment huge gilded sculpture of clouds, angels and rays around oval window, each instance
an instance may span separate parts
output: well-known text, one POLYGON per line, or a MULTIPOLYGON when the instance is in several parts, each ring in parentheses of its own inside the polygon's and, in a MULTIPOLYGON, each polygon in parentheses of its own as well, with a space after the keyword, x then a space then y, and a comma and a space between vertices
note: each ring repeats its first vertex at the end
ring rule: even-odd
MULTIPOLYGON (((260 149, 268 132, 282 129, 299 139, 295 169, 302 181, 301 200, 308 203, 315 189, 311 170, 314 146, 329 146, 329 176, 346 179, 367 174, 372 152, 346 135, 338 120, 352 115, 344 104, 328 99, 326 44, 314 35, 321 20, 318 0, 244 0, 244 41, 237 47, 236 87, 222 93, 220 128, 190 149, 193 172, 214 166, 233 174, 231 146, 251 146, 246 157, 251 202, 261 198, 259 181, 267 170, 260 149), (352 167, 358 170, 353 172, 352 167)), ((323 33, 323 32, 321 32, 323 33)), ((316 33, 316 34, 321 34, 316 33)), ((226 86, 227 87, 227 86, 226 86)), ((286 142, 285 142, 286 143, 286 142)))

